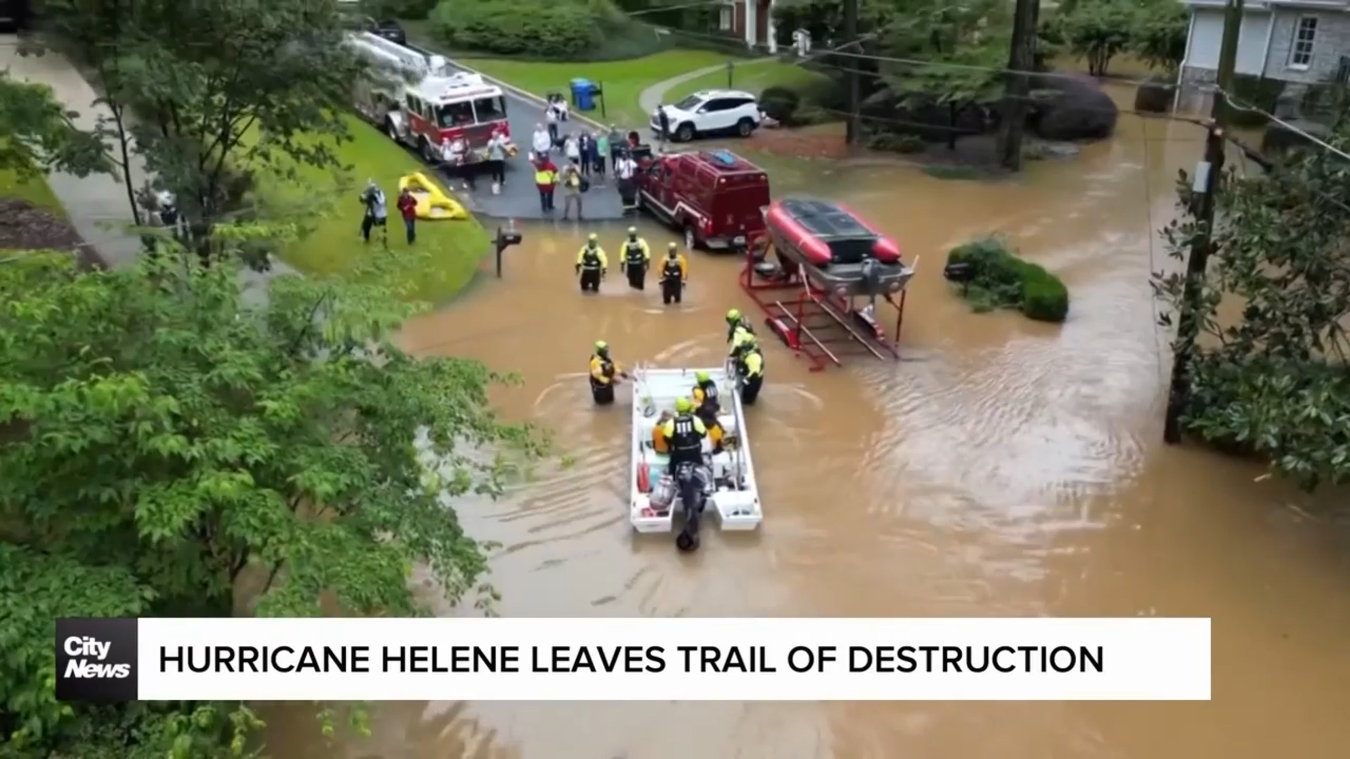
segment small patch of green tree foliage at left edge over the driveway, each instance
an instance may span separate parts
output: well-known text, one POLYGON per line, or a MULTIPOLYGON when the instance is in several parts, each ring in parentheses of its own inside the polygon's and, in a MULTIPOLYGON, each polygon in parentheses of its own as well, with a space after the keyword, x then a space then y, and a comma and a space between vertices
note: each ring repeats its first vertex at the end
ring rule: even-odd
POLYGON ((0 72, 0 170, 22 177, 50 170, 86 176, 112 165, 99 136, 81 130, 40 84, 0 72))

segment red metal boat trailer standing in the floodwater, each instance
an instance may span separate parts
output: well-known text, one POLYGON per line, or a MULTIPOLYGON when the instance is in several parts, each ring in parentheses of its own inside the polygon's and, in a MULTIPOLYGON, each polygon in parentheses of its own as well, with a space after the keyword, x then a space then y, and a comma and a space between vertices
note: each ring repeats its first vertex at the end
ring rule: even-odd
MULTIPOLYGON (((899 361, 905 289, 896 296, 849 296, 844 288, 830 290, 824 282, 811 281, 805 273, 810 266, 784 266, 787 259, 782 255, 778 255, 779 265, 770 267, 772 271, 757 269, 768 261, 770 253, 778 255, 767 234, 745 246, 741 289, 764 312, 768 328, 792 348, 794 355, 810 362, 811 371, 824 370, 826 363, 844 366, 840 357, 845 351, 899 361), (865 301, 861 308, 859 301, 865 301), (895 327, 890 335, 879 320, 882 304, 895 312, 895 327)), ((911 269, 914 266, 918 266, 918 259, 911 269)))

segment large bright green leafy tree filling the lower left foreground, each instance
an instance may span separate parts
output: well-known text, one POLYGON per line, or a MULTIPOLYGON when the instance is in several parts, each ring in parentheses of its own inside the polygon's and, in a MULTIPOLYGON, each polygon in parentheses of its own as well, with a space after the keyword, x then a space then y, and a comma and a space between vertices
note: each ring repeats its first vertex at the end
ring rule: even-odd
POLYGON ((69 751, 135 723, 148 731, 136 745, 170 735, 193 758, 213 756, 196 743, 242 751, 255 720, 238 705, 57 704, 53 619, 418 614, 414 566, 452 602, 490 602, 483 546, 455 498, 497 493, 539 452, 539 438, 489 407, 505 377, 393 342, 414 311, 400 282, 418 262, 386 258, 359 285, 277 278, 254 307, 236 265, 167 258, 119 271, 40 254, 0 266, 9 748, 69 751))

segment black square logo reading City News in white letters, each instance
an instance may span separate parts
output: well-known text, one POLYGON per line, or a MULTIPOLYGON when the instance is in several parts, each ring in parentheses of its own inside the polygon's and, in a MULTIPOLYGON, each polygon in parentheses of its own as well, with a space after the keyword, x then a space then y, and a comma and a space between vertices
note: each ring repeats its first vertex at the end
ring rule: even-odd
POLYGON ((136 700, 136 620, 57 620, 57 698, 136 700))

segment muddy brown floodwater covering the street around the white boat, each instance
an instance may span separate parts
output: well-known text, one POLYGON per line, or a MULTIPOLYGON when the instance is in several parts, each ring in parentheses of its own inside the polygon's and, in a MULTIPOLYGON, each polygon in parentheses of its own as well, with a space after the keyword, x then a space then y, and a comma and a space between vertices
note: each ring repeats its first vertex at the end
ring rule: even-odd
MULTIPOLYGON (((903 361, 811 374, 767 343, 770 382, 748 419, 763 535, 714 531, 693 558, 630 535, 626 412, 594 409, 582 373, 595 339, 626 362, 718 363, 722 313, 753 308, 738 262, 694 254, 682 308, 629 292, 617 270, 587 298, 571 270, 590 230, 529 227, 504 280, 405 342, 520 371, 500 407, 549 424, 576 459, 460 508, 474 535, 504 544, 491 565, 502 614, 1210 616, 1212 702, 379 704, 373 737, 332 745, 297 705, 266 712, 274 756, 1345 756, 1350 551, 1331 496, 1310 502, 1254 482, 1256 465, 1160 442, 1166 347, 1148 277, 1164 254, 1150 230, 1172 213, 1196 132, 1126 116, 1112 142, 1002 184, 907 167, 776 174, 783 193, 814 173, 811 192, 921 258, 903 361), (949 293, 945 251, 990 231, 1065 278, 1066 324, 975 315, 949 293)), ((597 231, 613 254, 622 227, 597 231)), ((672 238, 643 232, 653 248, 672 238)))

